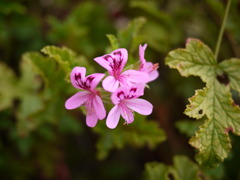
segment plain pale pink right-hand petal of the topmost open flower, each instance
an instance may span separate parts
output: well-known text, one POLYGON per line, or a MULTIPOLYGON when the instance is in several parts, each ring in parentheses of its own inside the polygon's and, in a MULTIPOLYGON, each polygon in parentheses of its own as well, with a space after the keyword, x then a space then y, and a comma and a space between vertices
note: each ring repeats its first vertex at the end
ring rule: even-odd
POLYGON ((136 71, 136 70, 127 70, 124 71, 120 76, 121 86, 126 85, 130 86, 132 83, 147 83, 149 76, 145 72, 136 71))

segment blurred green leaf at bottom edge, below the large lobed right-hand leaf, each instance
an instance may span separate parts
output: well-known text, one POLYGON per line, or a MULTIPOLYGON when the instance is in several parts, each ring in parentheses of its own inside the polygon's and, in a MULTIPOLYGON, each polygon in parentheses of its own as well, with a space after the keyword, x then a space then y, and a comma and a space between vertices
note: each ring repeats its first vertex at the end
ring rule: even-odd
POLYGON ((150 162, 145 165, 146 180, 200 180, 200 168, 185 156, 175 156, 173 165, 150 162))

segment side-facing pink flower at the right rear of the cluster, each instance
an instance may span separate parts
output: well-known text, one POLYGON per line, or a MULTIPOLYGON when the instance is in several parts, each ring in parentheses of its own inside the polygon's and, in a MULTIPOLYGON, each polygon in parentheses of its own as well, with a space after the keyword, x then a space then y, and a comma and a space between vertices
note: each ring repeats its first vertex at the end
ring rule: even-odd
POLYGON ((144 44, 144 46, 142 46, 141 44, 139 45, 139 57, 141 61, 139 71, 147 73, 149 75, 148 82, 150 82, 157 79, 159 76, 159 73, 157 71, 158 63, 153 64, 146 61, 146 59, 144 58, 146 48, 147 44, 144 44))

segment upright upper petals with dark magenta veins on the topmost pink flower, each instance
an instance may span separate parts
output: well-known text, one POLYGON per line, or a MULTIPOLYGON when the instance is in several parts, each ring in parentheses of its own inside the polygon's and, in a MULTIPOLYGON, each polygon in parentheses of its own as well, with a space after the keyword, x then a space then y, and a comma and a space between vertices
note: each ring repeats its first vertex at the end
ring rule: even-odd
POLYGON ((102 67, 107 69, 111 75, 116 73, 120 74, 127 62, 127 59, 128 53, 124 48, 117 49, 110 54, 94 58, 94 60, 102 67))

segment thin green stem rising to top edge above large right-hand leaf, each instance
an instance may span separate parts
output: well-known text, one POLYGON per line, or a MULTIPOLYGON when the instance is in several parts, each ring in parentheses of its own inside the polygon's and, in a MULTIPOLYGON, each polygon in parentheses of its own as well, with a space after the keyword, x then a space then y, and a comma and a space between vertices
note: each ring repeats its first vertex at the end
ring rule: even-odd
POLYGON ((219 53, 220 45, 221 45, 221 42, 222 42, 223 32, 224 32, 225 25, 226 25, 226 22, 227 22, 227 17, 228 17, 228 13, 229 13, 231 3, 232 3, 232 0, 228 0, 227 7, 226 7, 226 10, 225 10, 225 13, 224 13, 222 26, 221 26, 221 29, 220 29, 220 32, 219 32, 219 35, 218 35, 217 45, 216 45, 215 53, 214 53, 214 56, 215 56, 216 59, 218 58, 218 53, 219 53))

